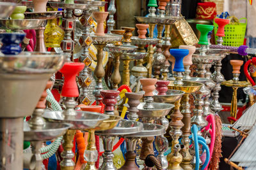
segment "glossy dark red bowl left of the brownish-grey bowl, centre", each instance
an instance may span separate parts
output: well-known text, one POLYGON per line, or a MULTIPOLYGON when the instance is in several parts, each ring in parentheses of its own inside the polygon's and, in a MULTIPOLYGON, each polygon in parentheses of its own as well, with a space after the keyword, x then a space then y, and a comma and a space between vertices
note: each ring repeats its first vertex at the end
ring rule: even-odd
POLYGON ((102 103, 105 104, 105 111, 114 111, 117 103, 116 97, 119 95, 118 90, 101 90, 100 94, 103 97, 102 103))

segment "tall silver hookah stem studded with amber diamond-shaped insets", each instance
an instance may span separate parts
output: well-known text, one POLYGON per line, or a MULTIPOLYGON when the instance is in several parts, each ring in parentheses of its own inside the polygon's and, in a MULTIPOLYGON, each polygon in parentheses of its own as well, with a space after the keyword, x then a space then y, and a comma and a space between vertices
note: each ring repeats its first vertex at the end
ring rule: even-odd
MULTIPOLYGON (((83 3, 83 0, 81 0, 83 3)), ((76 1, 80 2, 80 1, 76 1)), ((95 6, 104 6, 106 2, 104 1, 90 1, 95 6)), ((83 16, 80 19, 81 24, 83 25, 82 36, 79 41, 81 41, 82 53, 79 56, 79 62, 84 63, 84 69, 79 73, 79 85, 80 94, 79 94, 79 103, 83 103, 85 105, 92 104, 95 99, 93 96, 93 89, 95 86, 95 80, 92 76, 92 66, 93 59, 89 53, 89 47, 92 45, 92 27, 93 27, 93 18, 92 11, 94 6, 90 6, 89 9, 83 11, 83 16)))

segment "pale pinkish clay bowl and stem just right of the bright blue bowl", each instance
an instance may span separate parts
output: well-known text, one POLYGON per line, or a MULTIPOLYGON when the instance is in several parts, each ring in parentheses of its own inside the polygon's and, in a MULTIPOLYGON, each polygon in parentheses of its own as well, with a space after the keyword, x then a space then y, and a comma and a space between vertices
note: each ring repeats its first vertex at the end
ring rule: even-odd
POLYGON ((183 64, 184 64, 184 69, 185 69, 183 80, 190 80, 191 77, 189 76, 189 74, 191 71, 190 71, 189 67, 193 64, 192 55, 193 55, 193 53, 195 53, 196 47, 191 46, 191 45, 180 45, 179 49, 189 50, 188 55, 186 55, 186 57, 184 57, 184 59, 183 59, 183 64))

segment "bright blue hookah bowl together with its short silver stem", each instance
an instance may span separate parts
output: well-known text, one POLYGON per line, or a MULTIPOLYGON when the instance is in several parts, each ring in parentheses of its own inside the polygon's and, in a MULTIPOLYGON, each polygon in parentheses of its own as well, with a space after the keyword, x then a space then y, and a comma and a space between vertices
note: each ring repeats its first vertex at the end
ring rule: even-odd
POLYGON ((173 71, 177 72, 175 75, 174 85, 183 85, 182 72, 185 71, 183 66, 183 59, 189 54, 189 50, 186 49, 170 49, 171 55, 175 58, 175 65, 173 71))

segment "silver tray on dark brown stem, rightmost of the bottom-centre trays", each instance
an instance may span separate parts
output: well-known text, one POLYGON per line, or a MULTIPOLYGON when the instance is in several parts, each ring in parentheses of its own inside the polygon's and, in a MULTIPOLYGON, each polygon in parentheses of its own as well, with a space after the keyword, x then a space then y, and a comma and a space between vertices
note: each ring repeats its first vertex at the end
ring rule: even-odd
POLYGON ((162 125, 143 123, 143 130, 134 134, 124 136, 127 153, 125 153, 125 164, 118 170, 139 170, 135 163, 136 160, 136 142, 141 138, 149 138, 154 136, 162 136, 165 134, 165 129, 162 125))

